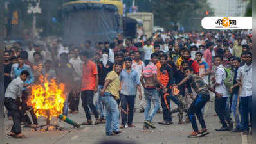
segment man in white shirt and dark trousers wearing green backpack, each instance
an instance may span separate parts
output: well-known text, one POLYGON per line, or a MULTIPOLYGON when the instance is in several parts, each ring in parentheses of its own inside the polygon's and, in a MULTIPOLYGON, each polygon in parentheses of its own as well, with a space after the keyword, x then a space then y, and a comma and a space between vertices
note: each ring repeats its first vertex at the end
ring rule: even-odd
POLYGON ((215 91, 220 93, 219 97, 215 97, 215 112, 221 120, 222 127, 221 129, 215 129, 216 131, 231 131, 233 129, 233 122, 226 111, 226 101, 228 100, 228 90, 224 84, 224 79, 226 79, 226 70, 222 65, 223 56, 215 56, 214 63, 217 67, 217 71, 215 74, 215 91), (226 124, 228 122, 228 125, 226 124))

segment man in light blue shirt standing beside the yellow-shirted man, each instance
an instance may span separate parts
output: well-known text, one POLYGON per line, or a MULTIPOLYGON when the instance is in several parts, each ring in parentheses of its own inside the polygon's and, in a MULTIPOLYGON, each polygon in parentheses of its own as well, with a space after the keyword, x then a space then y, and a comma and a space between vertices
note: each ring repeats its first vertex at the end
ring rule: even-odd
POLYGON ((142 90, 140 87, 140 78, 138 73, 131 68, 132 65, 131 58, 125 58, 125 69, 120 73, 120 83, 121 83, 121 107, 122 107, 122 125, 120 129, 125 128, 127 124, 127 113, 128 113, 128 127, 135 127, 133 125, 133 109, 134 109, 134 100, 136 96, 136 88, 138 88, 139 99, 142 99, 142 90), (127 111, 128 108, 128 111, 127 111), (125 111, 127 112, 125 114, 125 111))

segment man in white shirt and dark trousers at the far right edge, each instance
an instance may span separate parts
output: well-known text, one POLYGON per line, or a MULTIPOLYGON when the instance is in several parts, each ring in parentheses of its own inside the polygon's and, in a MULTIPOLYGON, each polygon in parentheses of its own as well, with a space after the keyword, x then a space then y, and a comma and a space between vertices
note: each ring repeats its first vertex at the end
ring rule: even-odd
MULTIPOLYGON (((242 86, 240 97, 244 119, 243 134, 249 134, 249 114, 252 123, 252 53, 246 52, 246 64, 238 69, 237 83, 242 86)), ((250 132, 252 134, 252 132, 250 132)))

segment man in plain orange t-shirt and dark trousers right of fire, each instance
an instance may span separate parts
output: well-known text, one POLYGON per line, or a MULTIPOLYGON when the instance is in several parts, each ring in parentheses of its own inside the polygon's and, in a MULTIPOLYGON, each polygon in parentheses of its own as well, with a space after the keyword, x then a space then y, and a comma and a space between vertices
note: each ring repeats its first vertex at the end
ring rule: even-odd
POLYGON ((94 93, 98 92, 98 70, 96 64, 90 59, 92 58, 91 52, 83 51, 81 53, 82 61, 84 61, 82 67, 82 106, 86 112, 87 122, 83 122, 82 125, 92 125, 91 115, 88 106, 93 111, 96 118, 95 125, 100 123, 98 118, 98 111, 93 104, 94 93))

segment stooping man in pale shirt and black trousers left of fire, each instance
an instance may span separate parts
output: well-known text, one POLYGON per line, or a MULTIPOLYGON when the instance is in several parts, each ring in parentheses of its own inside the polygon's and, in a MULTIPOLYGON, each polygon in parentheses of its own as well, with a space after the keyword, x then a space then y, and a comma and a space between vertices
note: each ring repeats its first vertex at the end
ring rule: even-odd
POLYGON ((14 125, 12 125, 9 136, 15 138, 27 138, 21 133, 21 92, 24 86, 24 81, 30 73, 23 70, 19 77, 14 79, 8 86, 5 92, 5 107, 11 113, 14 125))

